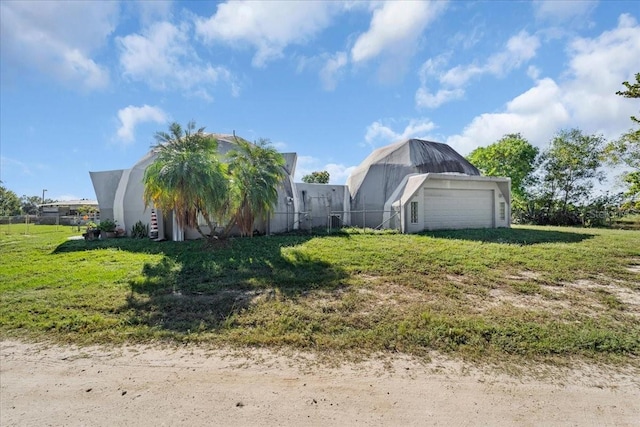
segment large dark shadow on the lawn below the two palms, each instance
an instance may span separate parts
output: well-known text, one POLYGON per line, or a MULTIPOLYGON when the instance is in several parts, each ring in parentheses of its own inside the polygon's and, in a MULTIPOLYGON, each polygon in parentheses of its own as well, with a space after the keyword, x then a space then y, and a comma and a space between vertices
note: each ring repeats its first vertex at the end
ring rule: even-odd
POLYGON ((162 255, 146 263, 129 282, 126 304, 131 325, 178 334, 212 332, 259 302, 304 298, 344 286, 346 273, 314 259, 297 245, 312 235, 203 241, 152 242, 135 239, 68 241, 54 252, 117 249, 162 255))

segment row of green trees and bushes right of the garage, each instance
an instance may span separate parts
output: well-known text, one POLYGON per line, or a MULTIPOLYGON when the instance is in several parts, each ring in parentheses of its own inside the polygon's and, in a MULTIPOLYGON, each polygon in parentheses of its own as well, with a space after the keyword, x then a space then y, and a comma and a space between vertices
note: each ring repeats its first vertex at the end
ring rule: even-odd
MULTIPOLYGON (((640 73, 635 78, 617 94, 640 98, 640 73)), ((636 128, 614 141, 565 129, 540 151, 515 133, 475 149, 467 159, 484 175, 511 178, 516 222, 603 225, 614 214, 640 212, 640 120, 631 120, 636 128), (594 185, 605 178, 605 166, 629 169, 620 176, 625 191, 593 195, 594 185)))

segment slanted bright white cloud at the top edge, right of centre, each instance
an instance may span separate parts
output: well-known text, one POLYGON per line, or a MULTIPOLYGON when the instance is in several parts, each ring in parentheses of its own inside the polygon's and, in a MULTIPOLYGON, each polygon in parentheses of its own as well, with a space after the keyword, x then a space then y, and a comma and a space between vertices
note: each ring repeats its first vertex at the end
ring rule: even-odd
POLYGON ((413 45, 445 6, 444 1, 382 2, 373 12, 369 30, 353 45, 351 59, 355 63, 364 62, 413 45))

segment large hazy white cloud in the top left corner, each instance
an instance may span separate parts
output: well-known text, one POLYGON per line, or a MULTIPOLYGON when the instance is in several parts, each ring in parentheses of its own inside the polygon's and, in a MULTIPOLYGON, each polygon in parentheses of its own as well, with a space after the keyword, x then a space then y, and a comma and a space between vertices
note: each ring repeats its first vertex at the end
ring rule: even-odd
POLYGON ((3 74, 36 69, 56 80, 94 90, 109 84, 109 72, 91 54, 114 31, 116 2, 1 2, 3 74))

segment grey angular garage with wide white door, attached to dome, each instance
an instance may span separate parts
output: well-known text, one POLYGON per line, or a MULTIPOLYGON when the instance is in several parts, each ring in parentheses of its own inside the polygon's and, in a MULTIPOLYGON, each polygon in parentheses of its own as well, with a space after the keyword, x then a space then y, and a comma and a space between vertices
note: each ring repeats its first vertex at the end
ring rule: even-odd
POLYGON ((509 178, 413 174, 385 203, 385 223, 403 233, 509 227, 510 194, 509 178))

